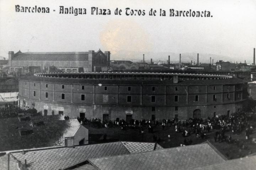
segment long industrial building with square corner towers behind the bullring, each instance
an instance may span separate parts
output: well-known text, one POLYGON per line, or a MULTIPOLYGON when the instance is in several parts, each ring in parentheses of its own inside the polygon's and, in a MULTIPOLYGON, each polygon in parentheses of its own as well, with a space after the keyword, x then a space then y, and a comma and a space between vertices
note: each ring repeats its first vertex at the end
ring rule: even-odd
POLYGON ((99 72, 110 66, 110 51, 95 52, 21 52, 9 51, 10 72, 28 72, 28 68, 41 71, 49 70, 50 66, 62 72, 99 72))

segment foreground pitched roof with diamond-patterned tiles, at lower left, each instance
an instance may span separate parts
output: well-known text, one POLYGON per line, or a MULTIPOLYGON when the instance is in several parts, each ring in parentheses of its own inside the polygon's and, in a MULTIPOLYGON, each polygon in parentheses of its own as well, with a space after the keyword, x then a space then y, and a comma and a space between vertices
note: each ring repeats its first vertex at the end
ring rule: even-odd
MULTIPOLYGON (((113 155, 129 154, 143 151, 153 151, 155 143, 138 143, 138 142, 111 142, 95 145, 84 145, 70 147, 61 147, 53 149, 38 149, 22 152, 11 153, 16 159, 24 164, 27 160, 29 170, 34 169, 64 169, 91 158, 100 158, 113 155), (135 149, 133 148, 135 147, 135 149)), ((157 149, 161 149, 158 146, 157 149)), ((84 165, 83 165, 84 166, 84 165)), ((88 166, 88 165, 86 165, 88 166)), ((88 168, 88 167, 87 167, 88 168)), ((90 166, 90 168, 92 168, 90 166)))

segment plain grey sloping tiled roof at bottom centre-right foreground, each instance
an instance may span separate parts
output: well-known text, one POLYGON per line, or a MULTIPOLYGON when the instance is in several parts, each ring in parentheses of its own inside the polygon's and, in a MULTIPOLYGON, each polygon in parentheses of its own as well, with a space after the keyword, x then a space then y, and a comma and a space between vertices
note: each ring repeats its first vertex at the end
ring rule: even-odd
POLYGON ((130 155, 89 159, 89 162, 100 170, 180 170, 222 163, 224 161, 207 143, 130 155))

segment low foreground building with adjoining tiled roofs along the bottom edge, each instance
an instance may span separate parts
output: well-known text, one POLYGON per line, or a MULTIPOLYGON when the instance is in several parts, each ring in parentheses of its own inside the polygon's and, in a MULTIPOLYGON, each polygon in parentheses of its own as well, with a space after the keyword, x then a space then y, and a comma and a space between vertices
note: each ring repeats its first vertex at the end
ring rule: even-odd
POLYGON ((32 149, 0 157, 1 168, 13 170, 252 170, 255 160, 255 155, 227 160, 209 142, 166 149, 156 143, 111 142, 32 149))

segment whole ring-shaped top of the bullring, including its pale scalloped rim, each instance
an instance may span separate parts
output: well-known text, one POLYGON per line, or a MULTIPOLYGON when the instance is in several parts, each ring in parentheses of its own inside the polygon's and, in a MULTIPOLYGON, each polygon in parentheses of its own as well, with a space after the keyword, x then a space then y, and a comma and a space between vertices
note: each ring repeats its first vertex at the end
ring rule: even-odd
POLYGON ((222 85, 246 83, 246 81, 233 78, 230 75, 183 73, 41 73, 36 74, 36 76, 22 77, 21 80, 62 84, 70 84, 72 81, 73 84, 95 85, 172 85, 174 84, 174 76, 178 76, 179 80, 175 85, 222 85))

